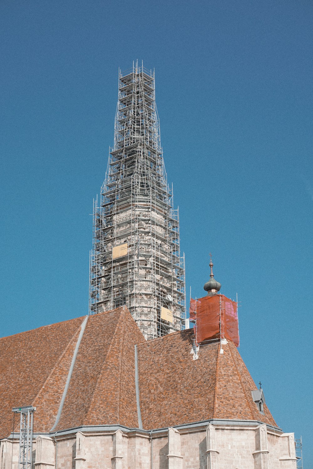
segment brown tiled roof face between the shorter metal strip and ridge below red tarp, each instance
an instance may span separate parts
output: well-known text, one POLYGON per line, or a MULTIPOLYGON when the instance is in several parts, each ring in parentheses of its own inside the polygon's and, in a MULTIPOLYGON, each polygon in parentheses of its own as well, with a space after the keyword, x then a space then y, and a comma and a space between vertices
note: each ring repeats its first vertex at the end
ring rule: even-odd
POLYGON ((144 428, 161 428, 213 416, 217 345, 190 354, 193 331, 172 333, 138 346, 144 428))

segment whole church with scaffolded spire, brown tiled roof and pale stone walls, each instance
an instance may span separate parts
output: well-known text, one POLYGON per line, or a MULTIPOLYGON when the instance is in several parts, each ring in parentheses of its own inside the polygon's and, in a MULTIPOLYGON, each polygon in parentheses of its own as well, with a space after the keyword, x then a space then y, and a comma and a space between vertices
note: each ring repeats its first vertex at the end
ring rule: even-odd
POLYGON ((154 73, 134 64, 118 92, 89 314, 0 338, 0 469, 296 469, 212 260, 189 328, 154 73))

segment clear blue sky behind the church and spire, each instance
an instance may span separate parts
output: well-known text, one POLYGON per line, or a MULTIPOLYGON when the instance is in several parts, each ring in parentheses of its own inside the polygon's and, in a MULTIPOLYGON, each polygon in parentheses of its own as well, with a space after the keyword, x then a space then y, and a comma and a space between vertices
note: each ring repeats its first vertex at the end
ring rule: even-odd
POLYGON ((4 0, 0 51, 0 335, 88 312, 118 68, 143 60, 187 292, 204 295, 211 251, 240 353, 309 468, 312 2, 4 0))

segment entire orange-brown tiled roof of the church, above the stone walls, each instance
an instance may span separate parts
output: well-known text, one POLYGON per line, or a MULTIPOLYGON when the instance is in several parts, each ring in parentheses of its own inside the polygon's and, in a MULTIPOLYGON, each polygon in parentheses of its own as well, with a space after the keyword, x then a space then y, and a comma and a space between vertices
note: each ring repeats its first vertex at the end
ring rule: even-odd
MULTIPOLYGON (((69 375, 85 317, 0 339, 0 438, 12 431, 12 408, 36 406, 34 431, 49 432, 69 375)), ((127 308, 88 317, 69 387, 54 430, 121 424, 138 428, 135 344, 143 428, 210 418, 259 420, 275 425, 237 348, 218 341, 190 354, 192 330, 146 342, 127 308)), ((15 421, 15 431, 17 424, 15 421)))

